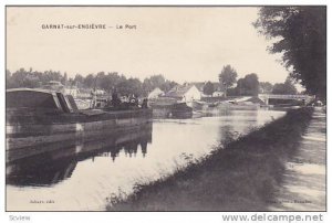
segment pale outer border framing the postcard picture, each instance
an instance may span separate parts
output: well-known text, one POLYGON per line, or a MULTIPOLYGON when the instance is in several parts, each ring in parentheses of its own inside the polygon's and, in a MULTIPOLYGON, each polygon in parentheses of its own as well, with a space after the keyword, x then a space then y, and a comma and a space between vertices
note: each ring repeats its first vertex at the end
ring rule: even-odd
MULTIPOLYGON (((329 1, 328 0, 297 0, 297 1, 290 1, 290 0, 278 0, 278 1, 262 1, 262 0, 255 0, 255 1, 249 1, 249 0, 237 0, 237 1, 231 1, 231 0, 226 0, 226 1, 211 1, 211 0, 207 0, 207 1, 203 1, 203 0, 191 0, 191 1, 185 1, 185 0, 168 0, 168 1, 135 1, 135 0, 116 0, 116 1, 102 1, 102 0, 2 0, 0 1, 1 4, 1 9, 0 9, 0 26, 1 26, 1 35, 0 35, 0 42, 2 44, 2 46, 0 49, 2 49, 1 51, 1 63, 0 63, 0 71, 1 74, 3 76, 1 76, 2 81, 0 82, 0 91, 1 93, 4 93, 4 71, 6 71, 6 66, 4 66, 4 6, 7 4, 29 4, 29 6, 33 6, 33 4, 44 4, 44 6, 59 6, 59 4, 63 4, 63 6, 82 6, 82 4, 95 4, 95 6, 105 6, 105 4, 112 4, 112 6, 125 6, 125 4, 139 4, 139 6, 144 6, 144 4, 163 4, 163 6, 174 6, 174 4, 183 4, 183 6, 198 6, 198 4, 204 4, 204 6, 239 6, 239 4, 245 4, 245 6, 257 6, 257 4, 321 4, 321 6, 328 6, 328 55, 329 52, 331 52, 331 44, 329 44, 330 42, 330 24, 331 24, 331 13, 329 12, 329 1)), ((331 57, 328 56, 328 64, 332 64, 331 63, 331 57)), ((328 73, 329 73, 329 66, 328 66, 328 73)), ((328 75, 328 86, 330 85, 330 78, 328 75)), ((332 98, 329 87, 328 87, 328 105, 330 105, 330 98, 332 98)), ((1 94, 1 114, 0 114, 0 124, 1 124, 1 130, 0 130, 0 137, 1 137, 1 145, 2 145, 2 150, 0 152, 0 159, 1 159, 1 164, 2 168, 0 173, 1 173, 1 178, 2 179, 2 183, 0 183, 0 198, 3 198, 4 194, 4 94, 1 94)), ((328 106, 328 127, 331 124, 330 120, 330 107, 328 106)), ((328 131, 328 138, 331 138, 331 131, 328 131)), ((329 142, 329 140, 328 140, 329 142)), ((328 160, 331 160, 331 151, 329 151, 330 149, 330 144, 328 144, 328 160)), ((328 171, 329 176, 330 176, 330 171, 328 171)), ((331 178, 328 177, 328 185, 331 185, 331 178)), ((330 209, 330 203, 331 203, 331 191, 329 190, 331 189, 331 187, 328 188, 328 210, 330 209)), ((0 200, 0 206, 1 206, 1 216, 0 216, 0 221, 1 222, 10 222, 9 216, 10 215, 28 215, 31 217, 30 222, 49 222, 49 223, 59 223, 59 222, 116 222, 116 223, 122 223, 122 222, 160 222, 160 223, 169 223, 169 222, 190 222, 190 223, 201 223, 201 222, 222 222, 221 215, 222 214, 227 214, 227 212, 116 212, 116 213, 106 213, 106 212, 4 212, 4 199, 0 200)), ((231 212, 229 214, 240 214, 241 212, 231 212)), ((272 212, 274 214, 278 214, 276 212, 272 212)), ((295 212, 293 214, 301 214, 301 215, 305 215, 305 214, 320 214, 321 212, 317 213, 317 212, 295 212)), ((255 213, 249 213, 249 215, 255 214, 255 213)), ((270 212, 271 214, 271 212, 270 212)), ((291 212, 281 212, 279 214, 292 214, 291 212)), ((332 222, 332 216, 329 212, 326 213, 321 213, 324 215, 324 221, 323 222, 332 222)))

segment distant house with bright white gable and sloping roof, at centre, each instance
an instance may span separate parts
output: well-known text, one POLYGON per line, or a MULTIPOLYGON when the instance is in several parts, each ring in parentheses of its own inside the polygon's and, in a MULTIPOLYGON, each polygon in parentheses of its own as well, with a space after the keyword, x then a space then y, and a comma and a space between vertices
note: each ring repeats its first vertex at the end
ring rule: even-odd
POLYGON ((193 102, 201 98, 200 92, 193 84, 177 85, 165 94, 166 97, 176 98, 179 102, 193 102))

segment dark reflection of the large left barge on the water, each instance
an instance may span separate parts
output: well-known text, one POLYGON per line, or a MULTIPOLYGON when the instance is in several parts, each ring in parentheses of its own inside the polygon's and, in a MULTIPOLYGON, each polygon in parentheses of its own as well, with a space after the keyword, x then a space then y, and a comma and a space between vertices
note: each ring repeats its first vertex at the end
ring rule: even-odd
POLYGON ((97 141, 82 142, 52 152, 24 158, 7 166, 7 184, 50 185, 72 176, 76 163, 95 157, 110 157, 113 161, 121 151, 136 157, 138 147, 145 157, 147 144, 152 142, 152 124, 112 135, 97 141))

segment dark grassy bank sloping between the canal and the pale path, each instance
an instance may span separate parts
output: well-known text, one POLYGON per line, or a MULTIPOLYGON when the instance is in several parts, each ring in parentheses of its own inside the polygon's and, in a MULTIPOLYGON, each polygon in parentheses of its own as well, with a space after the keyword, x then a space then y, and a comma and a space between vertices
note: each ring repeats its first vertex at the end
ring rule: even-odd
POLYGON ((266 211, 297 151, 311 108, 284 117, 216 149, 197 163, 137 187, 108 211, 266 211))

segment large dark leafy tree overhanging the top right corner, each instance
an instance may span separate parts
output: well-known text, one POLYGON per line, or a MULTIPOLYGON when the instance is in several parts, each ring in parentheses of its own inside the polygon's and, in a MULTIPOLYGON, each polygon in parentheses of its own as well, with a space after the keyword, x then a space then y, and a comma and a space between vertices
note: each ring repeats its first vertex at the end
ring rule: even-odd
POLYGON ((263 7, 253 24, 307 92, 326 98, 326 7, 263 7))

